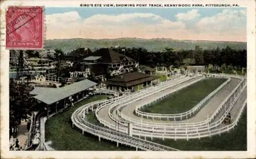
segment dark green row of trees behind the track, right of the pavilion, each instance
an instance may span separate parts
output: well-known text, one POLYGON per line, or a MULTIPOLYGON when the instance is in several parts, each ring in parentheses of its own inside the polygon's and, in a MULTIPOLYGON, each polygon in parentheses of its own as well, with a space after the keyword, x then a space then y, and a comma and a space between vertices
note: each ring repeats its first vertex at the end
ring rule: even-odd
POLYGON ((142 65, 151 67, 155 66, 170 66, 180 67, 186 64, 186 59, 192 59, 193 62, 190 65, 214 65, 219 67, 232 66, 238 70, 247 65, 247 51, 245 49, 232 49, 229 46, 220 49, 219 47, 214 49, 203 50, 199 46, 190 50, 173 50, 172 48, 165 48, 162 52, 147 51, 144 48, 114 48, 111 49, 125 54, 125 56, 133 58, 139 61, 142 65), (125 49, 125 51, 123 51, 125 49))

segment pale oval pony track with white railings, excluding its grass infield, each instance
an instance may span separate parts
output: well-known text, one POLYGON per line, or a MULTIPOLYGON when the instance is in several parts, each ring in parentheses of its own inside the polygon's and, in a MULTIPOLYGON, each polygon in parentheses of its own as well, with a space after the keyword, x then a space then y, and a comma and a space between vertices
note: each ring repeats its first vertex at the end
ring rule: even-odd
MULTIPOLYGON (((172 81, 124 94, 115 98, 88 103, 77 109, 71 117, 72 126, 82 134, 90 133, 136 150, 178 150, 153 142, 155 139, 200 139, 230 131, 237 125, 246 107, 246 77, 230 74, 179 76, 172 81), (218 88, 186 112, 159 114, 142 112, 140 108, 165 99, 206 78, 226 78, 218 88), (87 120, 89 111, 95 110, 100 125, 87 120), (231 114, 229 124, 225 124, 231 114)), ((97 90, 97 93, 104 90, 97 90)), ((113 94, 113 92, 110 92, 113 94)), ((118 93, 117 93, 118 94, 118 93)), ((172 107, 172 106, 170 106, 172 107)))

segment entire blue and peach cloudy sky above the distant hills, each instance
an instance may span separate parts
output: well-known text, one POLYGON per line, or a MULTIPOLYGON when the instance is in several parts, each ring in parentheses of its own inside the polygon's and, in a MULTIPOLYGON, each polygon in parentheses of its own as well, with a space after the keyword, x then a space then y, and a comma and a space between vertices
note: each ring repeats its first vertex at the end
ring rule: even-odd
POLYGON ((246 8, 47 7, 45 14, 47 39, 246 41, 246 8))

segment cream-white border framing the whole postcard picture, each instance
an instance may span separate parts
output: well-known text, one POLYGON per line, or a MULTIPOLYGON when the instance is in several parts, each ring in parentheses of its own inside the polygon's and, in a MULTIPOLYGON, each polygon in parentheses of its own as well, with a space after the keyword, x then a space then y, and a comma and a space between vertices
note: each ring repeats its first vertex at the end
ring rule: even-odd
POLYGON ((4 1, 1 2, 1 158, 256 158, 255 1, 4 1), (247 151, 9 151, 9 51, 5 49, 7 6, 80 7, 80 4, 238 4, 247 8, 247 151))

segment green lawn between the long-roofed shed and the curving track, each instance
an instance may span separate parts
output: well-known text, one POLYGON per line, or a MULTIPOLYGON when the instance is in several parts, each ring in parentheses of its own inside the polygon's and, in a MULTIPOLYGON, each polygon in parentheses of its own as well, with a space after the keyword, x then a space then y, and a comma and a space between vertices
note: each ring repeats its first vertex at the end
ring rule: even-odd
MULTIPOLYGON (((104 99, 105 95, 96 95, 89 99, 84 99, 74 105, 73 108, 68 109, 60 114, 53 116, 46 121, 45 125, 45 137, 46 142, 52 141, 52 147, 55 150, 80 150, 80 151, 121 151, 121 150, 135 150, 135 148, 125 147, 119 144, 116 147, 116 143, 105 141, 101 139, 98 141, 98 137, 91 134, 82 135, 80 132, 72 129, 71 115, 72 113, 81 107, 83 104, 104 99)), ((89 117, 91 118, 91 117, 89 117)))

